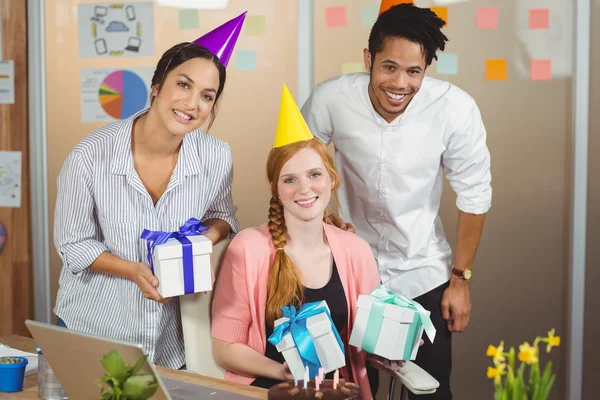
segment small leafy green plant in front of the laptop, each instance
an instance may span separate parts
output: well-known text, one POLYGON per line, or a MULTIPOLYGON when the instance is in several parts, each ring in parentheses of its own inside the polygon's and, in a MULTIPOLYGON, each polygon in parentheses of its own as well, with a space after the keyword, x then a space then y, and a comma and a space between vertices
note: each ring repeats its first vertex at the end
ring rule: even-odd
POLYGON ((156 393, 156 377, 139 373, 146 363, 146 357, 128 366, 121 354, 113 350, 102 358, 101 363, 106 372, 98 380, 100 400, 147 400, 156 393))

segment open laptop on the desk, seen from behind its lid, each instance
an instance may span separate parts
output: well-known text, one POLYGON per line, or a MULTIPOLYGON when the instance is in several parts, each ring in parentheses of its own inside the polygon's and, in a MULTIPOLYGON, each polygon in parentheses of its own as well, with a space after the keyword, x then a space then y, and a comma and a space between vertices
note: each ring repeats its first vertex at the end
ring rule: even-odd
MULTIPOLYGON (((106 372, 100 361, 111 351, 117 350, 125 365, 134 365, 140 358, 147 356, 139 344, 102 338, 31 320, 25 321, 25 325, 44 352, 44 356, 70 399, 100 398, 100 387, 97 381, 106 372)), ((248 396, 219 389, 161 378, 154 365, 147 361, 144 362, 139 373, 152 374, 158 382, 158 390, 150 398, 151 400, 251 399, 248 396)), ((106 388, 108 389, 108 386, 106 388)))

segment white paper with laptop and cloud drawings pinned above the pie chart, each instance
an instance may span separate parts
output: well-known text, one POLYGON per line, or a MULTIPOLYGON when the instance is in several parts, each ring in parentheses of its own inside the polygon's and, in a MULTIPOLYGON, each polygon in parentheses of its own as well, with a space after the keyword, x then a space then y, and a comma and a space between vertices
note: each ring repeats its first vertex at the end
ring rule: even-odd
POLYGON ((154 56, 154 4, 77 5, 79 57, 154 56))

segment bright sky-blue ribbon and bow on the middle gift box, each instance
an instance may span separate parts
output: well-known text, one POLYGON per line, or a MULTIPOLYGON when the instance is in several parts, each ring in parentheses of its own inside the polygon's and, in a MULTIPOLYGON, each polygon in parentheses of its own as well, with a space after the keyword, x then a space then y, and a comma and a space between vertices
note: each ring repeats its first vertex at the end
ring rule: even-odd
POLYGON ((315 376, 317 376, 319 374, 319 368, 321 368, 321 362, 317 356, 317 349, 315 348, 315 344, 310 336, 310 332, 306 327, 306 322, 309 317, 321 313, 327 314, 327 317, 331 321, 331 330, 338 342, 338 345, 340 346, 340 349, 342 350, 342 353, 344 353, 342 339, 340 338, 340 335, 333 324, 329 310, 327 307, 322 306, 322 303, 323 302, 321 301, 315 301, 313 303, 303 304, 297 313, 296 307, 294 306, 281 307, 283 316, 289 319, 277 325, 273 329, 273 334, 269 337, 269 343, 271 343, 273 346, 276 346, 279 344, 279 342, 281 342, 285 335, 288 333, 292 334, 292 339, 296 344, 296 349, 298 349, 298 353, 302 359, 302 364, 305 367, 308 365, 309 379, 313 379, 315 376))

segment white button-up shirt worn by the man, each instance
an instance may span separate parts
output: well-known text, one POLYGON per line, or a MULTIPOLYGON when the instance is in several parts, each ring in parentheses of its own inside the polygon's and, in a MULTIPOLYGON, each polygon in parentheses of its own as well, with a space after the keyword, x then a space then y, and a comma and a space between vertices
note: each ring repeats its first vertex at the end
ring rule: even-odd
POLYGON ((475 101, 448 82, 424 78, 391 123, 373 108, 368 84, 368 73, 329 79, 302 113, 313 135, 335 146, 341 217, 371 245, 386 287, 414 298, 450 279, 438 215, 444 168, 460 210, 491 206, 486 131, 475 101))

